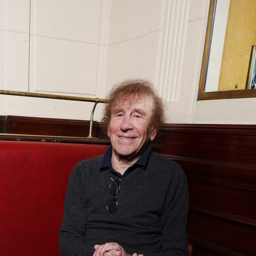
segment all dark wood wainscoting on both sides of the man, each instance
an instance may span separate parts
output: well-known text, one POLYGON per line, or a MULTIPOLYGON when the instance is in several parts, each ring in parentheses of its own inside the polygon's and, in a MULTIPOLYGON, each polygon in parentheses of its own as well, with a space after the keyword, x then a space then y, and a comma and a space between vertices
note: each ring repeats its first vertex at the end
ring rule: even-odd
MULTIPOLYGON (((87 136, 89 121, 6 117, 0 129, 41 135, 0 139, 109 144, 100 123, 93 129, 98 140, 78 138, 87 136)), ((256 125, 166 124, 152 147, 187 175, 193 255, 256 255, 256 125)))

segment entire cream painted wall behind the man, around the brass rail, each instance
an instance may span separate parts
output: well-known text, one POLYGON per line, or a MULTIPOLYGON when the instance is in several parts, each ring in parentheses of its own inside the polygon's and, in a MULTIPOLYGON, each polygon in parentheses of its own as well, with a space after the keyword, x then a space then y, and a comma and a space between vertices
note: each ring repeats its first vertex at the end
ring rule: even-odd
MULTIPOLYGON (((105 98, 150 79, 168 123, 252 123, 254 98, 196 102, 209 1, 0 0, 0 89, 105 98)), ((0 95, 0 115, 89 120, 93 105, 0 95)))

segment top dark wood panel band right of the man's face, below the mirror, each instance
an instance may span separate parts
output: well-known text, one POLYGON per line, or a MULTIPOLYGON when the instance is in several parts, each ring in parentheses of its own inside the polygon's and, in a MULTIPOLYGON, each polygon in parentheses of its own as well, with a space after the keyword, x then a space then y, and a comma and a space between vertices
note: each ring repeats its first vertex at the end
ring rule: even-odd
POLYGON ((233 128, 230 125, 219 125, 220 128, 216 125, 195 126, 165 127, 155 147, 162 154, 256 164, 252 154, 256 145, 256 130, 252 125, 243 125, 244 129, 238 125, 233 128))

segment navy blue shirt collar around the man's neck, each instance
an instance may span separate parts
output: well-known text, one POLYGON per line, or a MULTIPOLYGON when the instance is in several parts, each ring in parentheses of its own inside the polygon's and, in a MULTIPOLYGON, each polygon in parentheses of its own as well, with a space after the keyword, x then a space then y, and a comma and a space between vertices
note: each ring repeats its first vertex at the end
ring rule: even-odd
POLYGON ((134 169, 134 166, 140 165, 143 168, 145 168, 150 152, 151 152, 151 143, 149 142, 149 143, 147 143, 147 147, 145 148, 142 156, 132 166, 128 167, 128 169, 122 175, 121 173, 118 173, 115 169, 113 169, 113 166, 111 163, 112 146, 110 146, 110 147, 108 147, 108 149, 106 150, 106 152, 102 158, 102 162, 101 162, 99 169, 108 167, 112 173, 116 173, 122 179, 123 177, 127 176, 129 173, 132 172, 132 170, 134 169))

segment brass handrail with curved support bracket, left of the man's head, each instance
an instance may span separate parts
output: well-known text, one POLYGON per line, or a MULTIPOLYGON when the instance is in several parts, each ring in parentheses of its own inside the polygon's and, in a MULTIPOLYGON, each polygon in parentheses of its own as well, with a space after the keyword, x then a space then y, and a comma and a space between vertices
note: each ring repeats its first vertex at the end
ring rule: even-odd
POLYGON ((100 99, 100 98, 85 98, 85 97, 76 97, 76 96, 67 96, 67 95, 58 95, 58 94, 41 94, 41 93, 32 93, 32 92, 23 92, 23 91, 14 91, 14 90, 0 90, 0 94, 34 97, 34 98, 50 98, 50 99, 80 101, 80 102, 95 102, 90 115, 90 131, 89 131, 89 136, 87 137, 87 138, 94 138, 94 139, 98 139, 91 135, 95 107, 98 103, 108 102, 108 100, 100 99))

